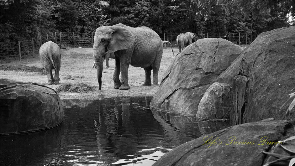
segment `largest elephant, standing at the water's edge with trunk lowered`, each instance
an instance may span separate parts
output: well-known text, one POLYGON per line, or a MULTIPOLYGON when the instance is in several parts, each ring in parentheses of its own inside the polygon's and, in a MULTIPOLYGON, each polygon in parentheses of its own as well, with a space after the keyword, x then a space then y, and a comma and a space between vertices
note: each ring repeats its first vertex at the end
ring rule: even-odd
POLYGON ((144 86, 151 85, 150 74, 153 69, 153 85, 158 85, 163 41, 152 29, 148 27, 133 28, 123 24, 101 26, 95 32, 93 50, 99 89, 101 89, 102 60, 106 52, 115 55, 113 75, 115 89, 130 89, 128 84, 128 68, 130 64, 134 67, 144 68, 144 86), (119 79, 120 72, 122 82, 119 79))

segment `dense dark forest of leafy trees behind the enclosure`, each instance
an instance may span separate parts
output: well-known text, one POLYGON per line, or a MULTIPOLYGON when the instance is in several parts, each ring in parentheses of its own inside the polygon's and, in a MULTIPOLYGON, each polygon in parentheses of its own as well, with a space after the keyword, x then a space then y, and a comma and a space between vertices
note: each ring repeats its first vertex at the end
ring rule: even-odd
POLYGON ((259 34, 294 25, 294 6, 294 0, 0 0, 0 44, 117 23, 157 33, 259 34))

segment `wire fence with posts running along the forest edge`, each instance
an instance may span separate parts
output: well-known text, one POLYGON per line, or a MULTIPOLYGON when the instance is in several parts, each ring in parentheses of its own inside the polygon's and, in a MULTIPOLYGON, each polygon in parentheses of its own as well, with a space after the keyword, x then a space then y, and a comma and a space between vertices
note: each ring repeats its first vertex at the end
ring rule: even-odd
MULTIPOLYGON (((159 34, 164 41, 169 41, 177 47, 176 38, 179 34, 163 33, 159 34)), ((224 38, 237 45, 249 45, 257 37, 256 34, 247 33, 202 33, 196 34, 196 39, 201 38, 224 38)), ((22 61, 24 58, 39 58, 40 46, 53 41, 60 48, 93 47, 94 33, 74 33, 74 32, 52 32, 28 40, 0 43, 0 64, 12 61, 22 61)))

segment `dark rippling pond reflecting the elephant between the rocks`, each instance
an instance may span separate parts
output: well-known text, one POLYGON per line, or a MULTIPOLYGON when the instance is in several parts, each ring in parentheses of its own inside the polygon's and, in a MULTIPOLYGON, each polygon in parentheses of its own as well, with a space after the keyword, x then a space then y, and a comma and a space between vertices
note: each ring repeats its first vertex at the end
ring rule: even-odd
POLYGON ((150 110, 152 97, 63 100, 64 123, 0 136, 0 165, 152 165, 164 153, 229 126, 150 110))

